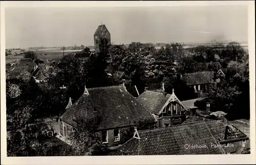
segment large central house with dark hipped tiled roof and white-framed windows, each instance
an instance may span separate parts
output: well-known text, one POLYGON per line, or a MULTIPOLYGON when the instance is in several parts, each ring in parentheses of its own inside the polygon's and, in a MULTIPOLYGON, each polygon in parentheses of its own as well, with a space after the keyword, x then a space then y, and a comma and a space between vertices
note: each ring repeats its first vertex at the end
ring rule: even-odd
POLYGON ((102 143, 109 147, 122 143, 123 129, 133 127, 134 121, 145 119, 148 126, 156 123, 154 116, 127 92, 124 84, 85 88, 74 104, 70 100, 67 111, 60 116, 59 134, 68 137, 78 117, 99 117, 97 131, 102 143))

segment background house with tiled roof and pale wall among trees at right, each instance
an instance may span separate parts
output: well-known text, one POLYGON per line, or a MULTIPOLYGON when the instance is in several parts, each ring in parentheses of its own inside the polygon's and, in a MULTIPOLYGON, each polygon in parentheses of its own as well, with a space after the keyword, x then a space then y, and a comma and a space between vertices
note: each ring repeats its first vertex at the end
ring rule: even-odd
POLYGON ((196 92, 205 92, 209 84, 216 83, 215 73, 213 71, 187 73, 182 77, 188 86, 195 89, 196 92))

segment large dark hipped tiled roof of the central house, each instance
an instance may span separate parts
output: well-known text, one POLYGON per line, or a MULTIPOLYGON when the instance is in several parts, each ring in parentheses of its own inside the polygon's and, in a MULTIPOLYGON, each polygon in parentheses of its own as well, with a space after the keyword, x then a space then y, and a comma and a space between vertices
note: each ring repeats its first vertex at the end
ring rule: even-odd
POLYGON ((154 123, 154 116, 147 111, 123 85, 88 88, 89 95, 83 94, 60 118, 76 125, 76 116, 91 118, 94 108, 98 111, 100 124, 98 129, 111 129, 131 126, 133 121, 145 117, 148 123, 154 123))

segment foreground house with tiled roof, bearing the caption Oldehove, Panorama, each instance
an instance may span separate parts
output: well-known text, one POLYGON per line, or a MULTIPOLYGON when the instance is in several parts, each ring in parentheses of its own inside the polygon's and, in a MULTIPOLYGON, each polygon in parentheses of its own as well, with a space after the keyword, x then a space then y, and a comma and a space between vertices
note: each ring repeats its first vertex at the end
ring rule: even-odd
POLYGON ((221 120, 188 117, 181 125, 135 131, 109 155, 248 154, 249 138, 221 120), (200 142, 200 144, 198 144, 200 142))

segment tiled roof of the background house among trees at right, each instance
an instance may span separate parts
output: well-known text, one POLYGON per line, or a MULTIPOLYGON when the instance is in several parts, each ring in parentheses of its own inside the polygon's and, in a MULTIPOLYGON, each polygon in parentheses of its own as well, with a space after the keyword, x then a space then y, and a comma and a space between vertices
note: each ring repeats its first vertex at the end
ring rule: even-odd
POLYGON ((185 74, 182 79, 187 85, 209 84, 214 82, 214 72, 195 72, 185 74))

